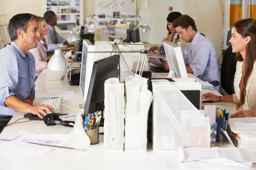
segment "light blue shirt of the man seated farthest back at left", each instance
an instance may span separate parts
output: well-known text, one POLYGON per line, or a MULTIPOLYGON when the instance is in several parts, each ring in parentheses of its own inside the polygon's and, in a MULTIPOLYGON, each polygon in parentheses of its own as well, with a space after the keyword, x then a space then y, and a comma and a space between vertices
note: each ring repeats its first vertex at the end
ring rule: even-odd
POLYGON ((55 28, 47 24, 48 26, 48 34, 44 36, 46 39, 46 44, 48 46, 47 51, 54 51, 58 48, 58 46, 63 45, 63 42, 67 41, 65 38, 61 37, 55 31, 55 28))

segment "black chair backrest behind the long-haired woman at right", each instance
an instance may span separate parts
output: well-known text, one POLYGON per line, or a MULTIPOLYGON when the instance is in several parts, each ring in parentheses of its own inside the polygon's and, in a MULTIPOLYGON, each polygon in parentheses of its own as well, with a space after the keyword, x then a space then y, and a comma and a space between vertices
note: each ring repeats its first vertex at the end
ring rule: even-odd
POLYGON ((228 47, 221 65, 221 86, 227 94, 234 94, 234 77, 236 73, 236 54, 232 52, 232 47, 228 47))

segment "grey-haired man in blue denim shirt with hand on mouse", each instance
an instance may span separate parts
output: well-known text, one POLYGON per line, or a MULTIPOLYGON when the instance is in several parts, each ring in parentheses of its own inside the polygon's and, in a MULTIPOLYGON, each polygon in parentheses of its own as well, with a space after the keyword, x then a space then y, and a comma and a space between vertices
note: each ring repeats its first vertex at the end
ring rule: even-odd
POLYGON ((0 50, 0 115, 14 115, 16 111, 32 113, 43 118, 49 105, 33 106, 35 99, 35 58, 29 49, 37 47, 37 17, 17 14, 8 24, 11 45, 0 50), (40 114, 41 113, 41 114, 40 114))

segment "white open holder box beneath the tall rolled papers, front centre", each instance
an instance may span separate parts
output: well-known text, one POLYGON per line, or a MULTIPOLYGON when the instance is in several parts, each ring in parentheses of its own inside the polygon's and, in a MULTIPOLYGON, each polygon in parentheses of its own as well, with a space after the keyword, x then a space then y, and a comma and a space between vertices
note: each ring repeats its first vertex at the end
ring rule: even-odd
POLYGON ((125 152, 147 151, 148 119, 125 118, 125 152))

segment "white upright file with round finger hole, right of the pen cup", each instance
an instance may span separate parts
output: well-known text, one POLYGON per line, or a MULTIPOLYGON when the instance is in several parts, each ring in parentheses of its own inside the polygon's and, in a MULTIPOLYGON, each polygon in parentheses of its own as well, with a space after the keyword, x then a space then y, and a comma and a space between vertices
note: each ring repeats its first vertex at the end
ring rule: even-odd
POLYGON ((119 79, 110 78, 105 82, 104 146, 106 151, 123 152, 125 90, 119 79))

